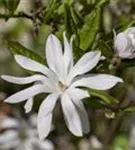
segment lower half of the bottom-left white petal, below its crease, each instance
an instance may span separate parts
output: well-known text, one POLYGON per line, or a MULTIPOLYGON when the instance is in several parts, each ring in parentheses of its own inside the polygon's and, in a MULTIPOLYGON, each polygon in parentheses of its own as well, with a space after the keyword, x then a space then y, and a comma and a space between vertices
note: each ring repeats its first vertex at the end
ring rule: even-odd
POLYGON ((51 130, 51 124, 52 124, 52 113, 50 113, 48 116, 45 116, 44 118, 40 117, 40 114, 38 114, 37 129, 40 140, 43 140, 48 136, 51 130))

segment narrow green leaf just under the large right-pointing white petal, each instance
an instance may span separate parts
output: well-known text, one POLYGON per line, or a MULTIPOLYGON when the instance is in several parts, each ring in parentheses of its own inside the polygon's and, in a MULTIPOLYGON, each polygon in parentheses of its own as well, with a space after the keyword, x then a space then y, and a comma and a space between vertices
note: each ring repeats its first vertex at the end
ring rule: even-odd
POLYGON ((104 91, 88 89, 88 92, 92 96, 96 96, 98 98, 101 98, 106 103, 109 103, 109 104, 111 104, 111 103, 118 103, 117 99, 115 99, 114 97, 112 97, 111 95, 109 95, 108 93, 106 93, 104 91))

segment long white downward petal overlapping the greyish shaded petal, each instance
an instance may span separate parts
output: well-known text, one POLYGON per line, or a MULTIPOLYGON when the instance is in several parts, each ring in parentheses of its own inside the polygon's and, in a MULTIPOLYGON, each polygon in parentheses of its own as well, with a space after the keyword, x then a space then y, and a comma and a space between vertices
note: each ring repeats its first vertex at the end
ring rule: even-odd
POLYGON ((82 136, 82 125, 79 114, 66 93, 61 97, 61 105, 69 130, 76 136, 82 136))

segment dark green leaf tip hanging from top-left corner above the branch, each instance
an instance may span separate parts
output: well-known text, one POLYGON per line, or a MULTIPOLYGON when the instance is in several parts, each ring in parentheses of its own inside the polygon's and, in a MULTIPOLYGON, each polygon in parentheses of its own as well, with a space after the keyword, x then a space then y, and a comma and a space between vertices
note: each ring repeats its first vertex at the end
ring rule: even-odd
POLYGON ((19 3, 20 0, 3 0, 3 4, 9 10, 10 14, 15 12, 19 3))

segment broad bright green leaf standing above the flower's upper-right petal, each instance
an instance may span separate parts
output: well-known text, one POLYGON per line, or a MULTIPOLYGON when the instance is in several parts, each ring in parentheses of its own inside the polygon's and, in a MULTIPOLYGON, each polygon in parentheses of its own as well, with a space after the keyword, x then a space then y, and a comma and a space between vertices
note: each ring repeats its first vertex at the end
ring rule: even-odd
POLYGON ((86 51, 91 47, 100 24, 100 8, 94 9, 80 29, 80 49, 86 51))

